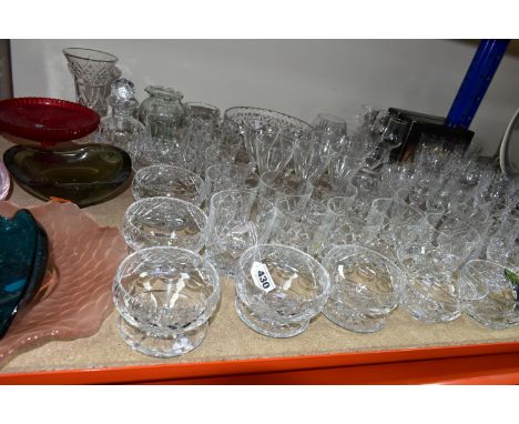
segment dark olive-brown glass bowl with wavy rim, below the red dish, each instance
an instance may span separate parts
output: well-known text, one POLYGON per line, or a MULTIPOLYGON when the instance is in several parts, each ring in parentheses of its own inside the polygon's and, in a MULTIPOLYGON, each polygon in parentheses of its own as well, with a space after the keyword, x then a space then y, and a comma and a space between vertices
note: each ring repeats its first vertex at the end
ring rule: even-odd
POLYGON ((6 151, 3 162, 29 193, 68 200, 80 208, 119 194, 132 174, 130 155, 102 143, 53 151, 14 145, 6 151))

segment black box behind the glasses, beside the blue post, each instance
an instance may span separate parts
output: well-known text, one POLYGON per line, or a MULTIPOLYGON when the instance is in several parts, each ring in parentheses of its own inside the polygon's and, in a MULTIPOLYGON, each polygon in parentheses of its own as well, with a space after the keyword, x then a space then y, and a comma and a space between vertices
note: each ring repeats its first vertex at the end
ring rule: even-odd
POLYGON ((404 142, 391 152, 391 159, 406 160, 414 152, 423 135, 432 135, 445 140, 447 149, 462 145, 467 149, 474 138, 474 132, 464 128, 447 127, 446 118, 434 117, 404 109, 389 108, 389 117, 409 122, 404 142))

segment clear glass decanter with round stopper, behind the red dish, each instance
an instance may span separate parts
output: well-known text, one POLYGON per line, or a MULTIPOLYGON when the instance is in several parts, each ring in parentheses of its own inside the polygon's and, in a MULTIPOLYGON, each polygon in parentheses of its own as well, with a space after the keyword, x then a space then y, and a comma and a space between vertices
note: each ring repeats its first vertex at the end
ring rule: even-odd
POLYGON ((108 102, 112 112, 101 119, 95 141, 125 150, 135 164, 138 152, 149 143, 150 133, 144 124, 133 118, 139 104, 134 98, 133 82, 124 78, 114 81, 108 102))

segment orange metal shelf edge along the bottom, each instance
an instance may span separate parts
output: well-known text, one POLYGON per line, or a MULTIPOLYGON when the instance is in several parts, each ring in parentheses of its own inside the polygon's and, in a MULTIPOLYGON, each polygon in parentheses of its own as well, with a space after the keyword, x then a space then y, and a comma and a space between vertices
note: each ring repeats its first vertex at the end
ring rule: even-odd
POLYGON ((478 381, 497 384, 502 381, 519 383, 518 376, 519 342, 506 342, 201 363, 0 373, 0 384, 263 384, 263 381, 268 381, 268 384, 485 384, 477 383, 478 381), (460 373, 460 367, 466 371, 460 373))

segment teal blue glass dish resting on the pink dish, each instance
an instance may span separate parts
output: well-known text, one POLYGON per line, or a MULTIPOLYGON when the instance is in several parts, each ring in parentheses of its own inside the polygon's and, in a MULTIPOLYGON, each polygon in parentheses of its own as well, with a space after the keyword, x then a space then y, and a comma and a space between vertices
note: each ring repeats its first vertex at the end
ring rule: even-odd
POLYGON ((48 258, 47 234, 28 210, 0 216, 0 339, 40 286, 48 258))

